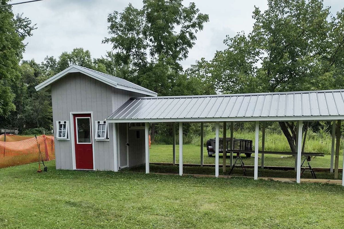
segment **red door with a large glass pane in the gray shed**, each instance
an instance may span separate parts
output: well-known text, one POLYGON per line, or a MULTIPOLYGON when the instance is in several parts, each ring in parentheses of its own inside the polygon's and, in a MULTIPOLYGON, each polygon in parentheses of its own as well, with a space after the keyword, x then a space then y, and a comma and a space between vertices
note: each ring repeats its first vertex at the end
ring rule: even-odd
POLYGON ((75 163, 77 169, 93 169, 92 125, 90 114, 74 115, 75 163))

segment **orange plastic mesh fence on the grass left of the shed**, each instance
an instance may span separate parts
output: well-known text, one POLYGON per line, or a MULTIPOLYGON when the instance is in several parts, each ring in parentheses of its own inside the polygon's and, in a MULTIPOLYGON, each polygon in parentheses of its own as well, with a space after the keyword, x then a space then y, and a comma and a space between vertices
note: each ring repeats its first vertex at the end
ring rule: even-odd
POLYGON ((38 161, 38 146, 44 161, 55 159, 54 137, 41 135, 35 137, 6 134, 0 135, 0 168, 38 161))

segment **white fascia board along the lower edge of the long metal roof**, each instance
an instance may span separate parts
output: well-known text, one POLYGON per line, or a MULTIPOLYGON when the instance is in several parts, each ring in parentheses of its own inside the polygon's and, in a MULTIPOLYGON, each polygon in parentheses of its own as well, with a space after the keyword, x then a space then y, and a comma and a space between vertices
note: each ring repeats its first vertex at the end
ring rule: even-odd
POLYGON ((344 116, 298 116, 298 117, 234 117, 234 118, 164 118, 164 119, 105 119, 109 123, 172 123, 172 122, 288 122, 288 121, 330 121, 344 119, 344 116))

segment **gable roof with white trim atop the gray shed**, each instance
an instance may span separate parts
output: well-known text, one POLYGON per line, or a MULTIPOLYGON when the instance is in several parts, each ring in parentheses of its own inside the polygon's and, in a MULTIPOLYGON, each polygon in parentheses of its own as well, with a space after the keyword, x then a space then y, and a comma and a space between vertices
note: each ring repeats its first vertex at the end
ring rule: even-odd
POLYGON ((150 96, 157 96, 158 93, 153 92, 151 90, 148 90, 147 88, 141 87, 135 83, 129 82, 125 79, 115 77, 108 75, 103 72, 99 72, 93 69, 81 67, 78 65, 71 65, 65 70, 57 73, 55 76, 52 76, 51 78, 45 80, 44 82, 38 84, 35 89, 37 91, 46 91, 47 89, 50 88, 50 85, 54 83, 55 81, 61 79, 62 77, 66 76, 68 73, 71 72, 81 72, 89 77, 92 77, 96 80, 99 80, 103 83, 106 83, 114 88, 122 89, 122 90, 127 90, 127 91, 133 91, 141 94, 146 94, 150 96))

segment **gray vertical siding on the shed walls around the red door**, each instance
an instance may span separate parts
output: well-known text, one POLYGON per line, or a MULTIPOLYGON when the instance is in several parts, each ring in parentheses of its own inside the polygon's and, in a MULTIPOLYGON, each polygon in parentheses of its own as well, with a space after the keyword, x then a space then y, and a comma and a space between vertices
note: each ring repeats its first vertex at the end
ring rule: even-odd
MULTIPOLYGON (((51 85, 53 105, 53 125, 56 133, 56 121, 70 121, 70 112, 93 112, 92 134, 95 121, 104 120, 129 98, 144 96, 139 93, 113 88, 82 73, 70 73, 51 85)), ((69 123, 69 128, 73 128, 69 123)), ((96 170, 114 170, 114 143, 112 125, 109 128, 109 141, 95 141, 96 170)), ((69 133, 71 133, 69 129, 69 133)), ((125 139, 126 139, 126 133, 125 139)), ((119 137, 122 133, 119 133, 119 137)), ((73 169, 72 141, 55 138, 57 169, 73 169)), ((125 143, 125 142, 124 142, 125 143)))

